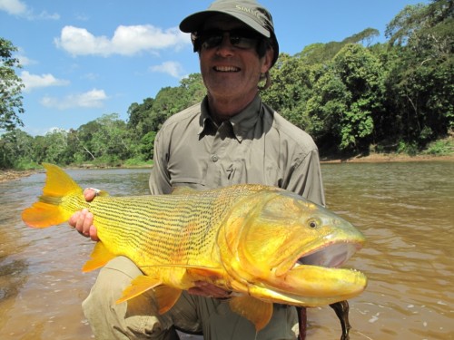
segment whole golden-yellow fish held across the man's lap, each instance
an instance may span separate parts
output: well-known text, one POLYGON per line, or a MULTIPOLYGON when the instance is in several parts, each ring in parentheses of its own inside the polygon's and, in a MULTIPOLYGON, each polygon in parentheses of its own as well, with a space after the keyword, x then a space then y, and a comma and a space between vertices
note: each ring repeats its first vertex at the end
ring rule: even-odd
POLYGON ((97 242, 84 271, 129 257, 143 276, 118 303, 153 289, 160 313, 195 281, 232 290, 232 310, 257 331, 272 303, 325 306, 359 295, 367 278, 340 267, 364 237, 348 221, 301 196, 244 184, 172 195, 109 197, 91 202, 64 170, 44 164, 43 195, 22 218, 34 228, 67 221, 77 210, 94 214, 97 242))

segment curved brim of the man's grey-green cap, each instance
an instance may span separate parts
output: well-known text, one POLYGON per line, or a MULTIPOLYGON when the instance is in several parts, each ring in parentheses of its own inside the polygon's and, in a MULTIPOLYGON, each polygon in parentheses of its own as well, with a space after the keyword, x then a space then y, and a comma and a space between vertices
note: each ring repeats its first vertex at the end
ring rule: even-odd
POLYGON ((252 29, 257 31, 259 34, 269 38, 270 32, 263 28, 261 24, 258 24, 251 17, 247 15, 242 15, 238 12, 229 13, 228 11, 215 11, 215 10, 206 10, 193 15, 189 15, 183 19, 180 23, 180 30, 185 33, 197 32, 201 29, 202 25, 210 18, 212 15, 231 15, 233 18, 240 20, 242 23, 247 24, 252 29))

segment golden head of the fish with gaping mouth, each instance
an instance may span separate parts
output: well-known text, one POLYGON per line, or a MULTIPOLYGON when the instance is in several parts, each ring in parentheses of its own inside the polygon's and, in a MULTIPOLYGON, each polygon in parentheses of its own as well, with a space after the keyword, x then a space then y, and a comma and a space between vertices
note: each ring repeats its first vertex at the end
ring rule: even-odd
POLYGON ((341 267, 365 238, 350 222, 286 190, 242 200, 223 255, 234 285, 264 300, 324 306, 360 294, 366 277, 341 267), (225 250, 227 249, 227 251, 225 250))

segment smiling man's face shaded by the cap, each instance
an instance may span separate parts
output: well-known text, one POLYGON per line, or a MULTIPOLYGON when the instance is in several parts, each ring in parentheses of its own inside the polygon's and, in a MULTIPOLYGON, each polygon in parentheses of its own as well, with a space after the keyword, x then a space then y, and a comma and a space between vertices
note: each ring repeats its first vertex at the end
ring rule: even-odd
POLYGON ((203 82, 215 100, 252 101, 258 91, 261 73, 267 72, 271 66, 272 52, 268 51, 259 58, 256 44, 248 48, 247 44, 231 42, 229 32, 232 31, 233 36, 242 29, 248 28, 228 15, 212 16, 203 26, 203 32, 224 32, 220 43, 218 40, 217 45, 202 44, 200 50, 203 82))

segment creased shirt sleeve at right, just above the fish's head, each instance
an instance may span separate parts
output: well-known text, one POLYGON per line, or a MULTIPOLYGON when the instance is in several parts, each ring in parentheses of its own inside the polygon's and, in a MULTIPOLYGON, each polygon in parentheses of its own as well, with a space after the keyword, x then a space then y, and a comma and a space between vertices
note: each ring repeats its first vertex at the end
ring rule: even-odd
POLYGON ((314 203, 325 206, 319 151, 312 150, 293 167, 283 189, 291 190, 314 203))

